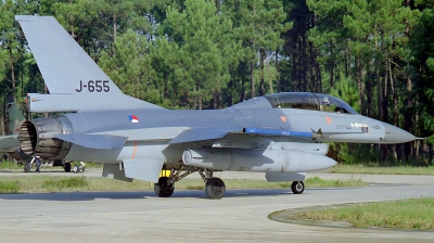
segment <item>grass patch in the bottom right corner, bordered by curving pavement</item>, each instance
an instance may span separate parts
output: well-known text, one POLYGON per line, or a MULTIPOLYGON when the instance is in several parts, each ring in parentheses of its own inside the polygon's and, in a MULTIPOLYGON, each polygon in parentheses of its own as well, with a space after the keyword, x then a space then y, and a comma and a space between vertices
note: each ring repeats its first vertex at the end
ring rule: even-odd
POLYGON ((309 209, 291 219, 347 222, 358 228, 434 229, 434 199, 359 203, 327 209, 309 209))

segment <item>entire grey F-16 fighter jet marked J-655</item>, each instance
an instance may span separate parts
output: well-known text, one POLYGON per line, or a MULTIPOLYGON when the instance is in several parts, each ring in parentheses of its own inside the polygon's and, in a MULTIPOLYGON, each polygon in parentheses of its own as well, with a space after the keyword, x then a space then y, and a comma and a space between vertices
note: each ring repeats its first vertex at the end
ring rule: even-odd
POLYGON ((157 196, 192 172, 209 199, 226 187, 214 171, 265 172, 268 181, 294 181, 336 164, 321 141, 403 143, 414 136, 357 114, 320 93, 275 93, 226 110, 169 111, 124 94, 51 16, 16 16, 50 94, 29 93, 30 112, 71 112, 25 122, 24 153, 48 159, 104 164, 103 176, 155 182, 157 196), (159 177, 162 169, 171 170, 159 177))

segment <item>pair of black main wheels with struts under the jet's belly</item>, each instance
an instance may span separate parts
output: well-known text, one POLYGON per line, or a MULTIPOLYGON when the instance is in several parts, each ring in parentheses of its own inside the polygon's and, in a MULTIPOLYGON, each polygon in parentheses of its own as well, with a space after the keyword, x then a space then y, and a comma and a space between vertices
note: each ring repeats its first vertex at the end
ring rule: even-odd
MULTIPOLYGON (((175 182, 181 180, 192 172, 194 171, 183 171, 183 167, 180 169, 173 168, 168 177, 161 177, 158 182, 154 184, 155 194, 158 197, 169 197, 175 191, 175 182)), ((197 172, 205 182, 205 193, 209 199, 219 200, 225 195, 225 182, 220 178, 213 177, 213 170, 197 168, 197 172)))

